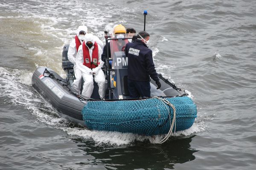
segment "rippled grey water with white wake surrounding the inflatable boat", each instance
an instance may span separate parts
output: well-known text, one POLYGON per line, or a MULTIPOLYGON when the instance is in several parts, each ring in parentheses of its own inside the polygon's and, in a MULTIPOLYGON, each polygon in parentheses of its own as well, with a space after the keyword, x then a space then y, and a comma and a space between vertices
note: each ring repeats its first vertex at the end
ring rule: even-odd
POLYGON ((256 170, 256 1, 0 0, 0 169, 256 170), (186 89, 194 125, 163 136, 73 126, 31 86, 84 21, 151 34, 156 69, 186 89))

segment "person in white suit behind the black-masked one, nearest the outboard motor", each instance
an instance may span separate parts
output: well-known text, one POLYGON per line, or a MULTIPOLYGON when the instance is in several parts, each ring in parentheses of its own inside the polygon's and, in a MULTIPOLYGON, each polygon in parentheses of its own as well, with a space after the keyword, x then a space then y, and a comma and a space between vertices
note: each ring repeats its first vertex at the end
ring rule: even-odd
MULTIPOLYGON (((79 46, 82 44, 84 40, 84 36, 87 33, 87 26, 79 26, 77 29, 76 37, 70 42, 70 46, 67 51, 67 58, 70 62, 74 64, 74 73, 76 79, 74 79, 74 82, 72 84, 72 88, 74 88, 77 93, 81 93, 81 79, 82 74, 80 69, 76 65, 76 54, 78 51, 79 46)), ((103 42, 99 40, 98 37, 93 36, 94 40, 98 43, 98 45, 103 48, 103 42)))

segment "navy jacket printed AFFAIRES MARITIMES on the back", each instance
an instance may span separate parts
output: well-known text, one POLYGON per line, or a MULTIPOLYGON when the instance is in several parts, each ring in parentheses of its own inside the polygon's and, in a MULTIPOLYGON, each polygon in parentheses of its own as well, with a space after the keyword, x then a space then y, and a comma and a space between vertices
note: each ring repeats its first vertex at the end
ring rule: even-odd
POLYGON ((154 67, 152 50, 141 40, 135 40, 125 45, 125 55, 128 57, 128 79, 135 81, 159 81, 154 67), (149 77, 150 76, 150 77, 149 77))

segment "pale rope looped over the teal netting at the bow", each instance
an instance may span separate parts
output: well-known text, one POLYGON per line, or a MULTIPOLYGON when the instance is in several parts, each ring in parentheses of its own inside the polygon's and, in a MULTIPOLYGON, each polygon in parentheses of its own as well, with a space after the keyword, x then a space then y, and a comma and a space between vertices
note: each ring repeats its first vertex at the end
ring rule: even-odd
POLYGON ((174 132, 176 131, 176 109, 175 109, 175 106, 172 105, 172 103, 170 103, 168 100, 160 98, 160 97, 157 97, 157 96, 155 96, 154 98, 159 99, 161 102, 163 102, 164 105, 165 104, 169 105, 173 109, 173 118, 172 118, 172 123, 171 123, 171 113, 170 113, 170 110, 165 105, 165 107, 166 107, 166 109, 168 111, 168 114, 169 114, 170 130, 169 130, 169 132, 166 134, 166 136, 162 140, 160 140, 159 142, 156 142, 157 144, 162 144, 162 143, 166 142, 171 135, 173 135, 172 130, 173 130, 174 126, 175 126, 174 132))

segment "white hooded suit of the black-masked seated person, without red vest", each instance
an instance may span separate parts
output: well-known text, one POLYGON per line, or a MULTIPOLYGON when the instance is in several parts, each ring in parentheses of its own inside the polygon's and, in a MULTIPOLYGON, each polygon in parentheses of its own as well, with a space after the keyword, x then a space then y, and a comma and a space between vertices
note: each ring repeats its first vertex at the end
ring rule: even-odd
MULTIPOLYGON (((93 45, 94 45, 95 40, 94 40, 93 34, 86 34, 85 39, 84 39, 85 48, 88 48, 88 50, 89 50, 90 61, 93 61, 92 53, 93 53, 94 46, 89 48, 86 45, 86 42, 88 42, 88 41, 93 42, 93 45)), ((104 94, 105 94, 104 89, 105 89, 106 80, 105 80, 105 75, 101 69, 102 65, 104 64, 104 62, 101 60, 101 55, 102 55, 102 48, 100 47, 100 45, 98 45, 98 66, 96 68, 88 68, 87 66, 83 65, 84 56, 83 56, 82 45, 79 46, 79 49, 78 49, 78 52, 76 55, 76 65, 81 70, 81 74, 84 79, 82 95, 86 96, 87 98, 90 98, 90 96, 93 93, 93 76, 94 76, 95 82, 99 86, 100 98, 103 99, 104 94)))

